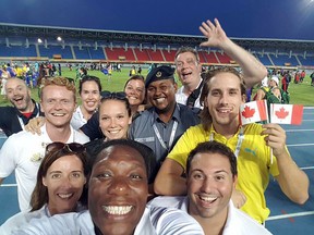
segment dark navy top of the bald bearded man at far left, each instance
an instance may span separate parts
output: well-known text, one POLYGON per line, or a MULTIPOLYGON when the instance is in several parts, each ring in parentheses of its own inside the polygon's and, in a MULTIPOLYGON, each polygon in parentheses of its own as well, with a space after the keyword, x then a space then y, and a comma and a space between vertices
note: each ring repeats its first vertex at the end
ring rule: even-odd
POLYGON ((33 103, 35 104, 35 108, 29 118, 23 115, 15 107, 0 107, 0 128, 3 129, 8 137, 23 131, 24 125, 27 125, 31 119, 44 115, 40 112, 39 104, 36 103, 35 100, 33 100, 33 103))

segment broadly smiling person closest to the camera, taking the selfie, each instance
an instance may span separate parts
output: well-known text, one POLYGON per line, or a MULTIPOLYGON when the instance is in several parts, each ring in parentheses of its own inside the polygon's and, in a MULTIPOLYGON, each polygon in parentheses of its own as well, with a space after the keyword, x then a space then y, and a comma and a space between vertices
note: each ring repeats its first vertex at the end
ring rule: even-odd
POLYGON ((92 161, 89 211, 33 220, 15 234, 204 234, 181 210, 146 206, 152 166, 143 144, 128 139, 102 143, 92 161))

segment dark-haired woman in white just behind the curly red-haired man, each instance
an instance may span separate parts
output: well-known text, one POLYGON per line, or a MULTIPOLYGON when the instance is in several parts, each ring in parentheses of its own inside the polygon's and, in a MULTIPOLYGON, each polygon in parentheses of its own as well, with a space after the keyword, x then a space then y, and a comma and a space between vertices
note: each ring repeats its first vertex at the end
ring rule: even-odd
POLYGON ((78 94, 82 104, 76 108, 71 120, 71 126, 80 129, 97 111, 100 101, 101 84, 96 76, 86 75, 80 79, 78 94))

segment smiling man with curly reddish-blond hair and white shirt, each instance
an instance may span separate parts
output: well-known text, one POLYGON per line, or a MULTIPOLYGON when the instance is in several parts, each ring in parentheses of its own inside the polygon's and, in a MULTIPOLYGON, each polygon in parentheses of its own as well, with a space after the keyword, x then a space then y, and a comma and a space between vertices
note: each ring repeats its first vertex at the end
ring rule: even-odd
POLYGON ((41 134, 20 132, 10 136, 0 151, 0 184, 15 171, 21 211, 29 209, 45 147, 52 141, 85 144, 89 140, 70 126, 76 106, 73 83, 64 77, 47 78, 43 82, 40 98, 40 107, 46 116, 46 124, 40 127, 41 134))

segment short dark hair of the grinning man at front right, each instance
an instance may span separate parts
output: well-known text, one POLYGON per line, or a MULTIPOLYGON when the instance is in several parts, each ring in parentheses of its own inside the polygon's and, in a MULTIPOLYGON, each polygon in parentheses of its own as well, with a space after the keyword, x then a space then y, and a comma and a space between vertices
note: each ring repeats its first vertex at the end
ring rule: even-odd
POLYGON ((221 143, 218 143, 216 140, 200 143, 189 153, 188 161, 186 161, 186 175, 189 175, 191 163, 197 153, 219 153, 219 154, 225 156, 229 160, 232 176, 234 177, 235 175, 238 175, 237 157, 234 156, 233 151, 228 146, 221 143))

